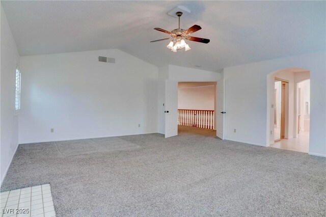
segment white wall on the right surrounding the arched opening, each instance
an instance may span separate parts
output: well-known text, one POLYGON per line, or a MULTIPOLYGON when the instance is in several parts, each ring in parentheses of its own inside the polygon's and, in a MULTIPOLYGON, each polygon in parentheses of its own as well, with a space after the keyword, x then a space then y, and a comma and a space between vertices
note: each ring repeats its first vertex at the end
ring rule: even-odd
POLYGON ((325 51, 262 61, 224 69, 226 139, 268 146, 274 72, 298 67, 310 70, 309 153, 326 156, 326 55, 325 51), (268 82, 267 82, 268 81, 268 82), (234 133, 233 129, 237 128, 234 133))

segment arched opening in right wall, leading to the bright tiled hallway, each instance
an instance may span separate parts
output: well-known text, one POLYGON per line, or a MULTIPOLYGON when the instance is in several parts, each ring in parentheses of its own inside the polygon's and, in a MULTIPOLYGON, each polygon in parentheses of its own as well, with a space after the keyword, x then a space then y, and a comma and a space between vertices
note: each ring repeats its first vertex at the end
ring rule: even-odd
POLYGON ((267 79, 267 142, 270 147, 308 153, 310 71, 286 68, 267 79))

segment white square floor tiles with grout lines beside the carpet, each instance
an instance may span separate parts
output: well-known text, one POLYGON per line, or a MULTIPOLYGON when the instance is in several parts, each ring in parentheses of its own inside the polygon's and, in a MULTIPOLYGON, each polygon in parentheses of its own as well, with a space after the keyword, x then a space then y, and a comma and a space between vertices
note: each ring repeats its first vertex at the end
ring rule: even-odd
POLYGON ((1 216, 56 216, 50 184, 0 193, 1 216))

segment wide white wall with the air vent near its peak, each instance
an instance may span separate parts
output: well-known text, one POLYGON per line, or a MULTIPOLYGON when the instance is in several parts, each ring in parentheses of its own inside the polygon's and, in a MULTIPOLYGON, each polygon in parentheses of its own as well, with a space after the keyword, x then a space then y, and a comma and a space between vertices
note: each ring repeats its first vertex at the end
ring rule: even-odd
POLYGON ((19 143, 157 132, 158 68, 147 62, 110 49, 21 57, 20 69, 19 143))

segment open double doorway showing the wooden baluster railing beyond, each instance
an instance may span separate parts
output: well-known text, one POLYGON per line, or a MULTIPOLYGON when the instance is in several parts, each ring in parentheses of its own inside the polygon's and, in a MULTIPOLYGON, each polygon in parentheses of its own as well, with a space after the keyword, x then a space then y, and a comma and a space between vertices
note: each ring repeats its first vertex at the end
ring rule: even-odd
POLYGON ((216 82, 178 83, 178 134, 216 137, 216 82))

